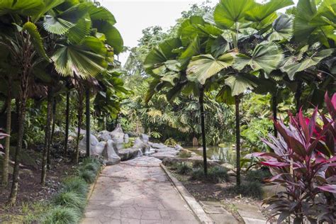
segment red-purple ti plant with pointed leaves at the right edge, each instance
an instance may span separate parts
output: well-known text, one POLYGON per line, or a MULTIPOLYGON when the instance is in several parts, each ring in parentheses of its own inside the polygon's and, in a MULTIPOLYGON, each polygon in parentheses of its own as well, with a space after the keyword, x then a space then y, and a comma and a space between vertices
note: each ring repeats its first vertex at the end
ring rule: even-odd
POLYGON ((327 114, 318 116, 317 108, 310 118, 290 114, 288 127, 274 121, 279 138, 263 140, 274 152, 256 153, 274 176, 269 183, 284 188, 264 200, 278 223, 289 217, 294 223, 336 221, 336 94, 325 94, 325 104, 327 114))

